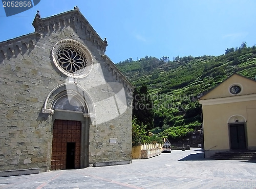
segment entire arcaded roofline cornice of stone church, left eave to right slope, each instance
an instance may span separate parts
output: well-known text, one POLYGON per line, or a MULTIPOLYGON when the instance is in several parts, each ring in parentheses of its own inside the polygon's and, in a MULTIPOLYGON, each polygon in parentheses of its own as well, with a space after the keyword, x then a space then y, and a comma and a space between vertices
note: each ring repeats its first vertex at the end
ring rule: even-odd
POLYGON ((35 32, 0 42, 0 47, 3 47, 1 48, 2 50, 0 50, 0 58, 3 56, 5 59, 8 56, 12 56, 15 52, 23 51, 23 48, 32 48, 40 37, 45 36, 46 34, 55 30, 70 26, 84 31, 84 37, 86 37, 86 40, 91 41, 92 44, 94 44, 96 48, 102 52, 102 57, 105 58, 105 66, 109 67, 109 71, 116 77, 117 80, 119 80, 119 82, 123 83, 123 85, 129 89, 129 91, 133 91, 135 88, 120 72, 110 58, 104 54, 106 46, 108 46, 107 42, 100 38, 88 20, 81 14, 78 7, 75 7, 74 10, 63 12, 47 18, 41 18, 38 11, 32 25, 35 28, 35 32))

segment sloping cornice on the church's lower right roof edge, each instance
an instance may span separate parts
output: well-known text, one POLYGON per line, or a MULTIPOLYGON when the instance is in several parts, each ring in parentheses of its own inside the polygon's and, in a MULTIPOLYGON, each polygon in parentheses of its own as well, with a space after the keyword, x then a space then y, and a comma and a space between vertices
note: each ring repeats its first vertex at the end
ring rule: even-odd
POLYGON ((106 55, 102 55, 102 58, 104 59, 106 68, 108 68, 109 72, 112 73, 112 75, 116 78, 116 80, 122 83, 124 88, 126 88, 128 92, 133 92, 135 86, 133 86, 130 83, 130 81, 127 80, 127 78, 115 66, 114 62, 112 62, 111 59, 106 55))

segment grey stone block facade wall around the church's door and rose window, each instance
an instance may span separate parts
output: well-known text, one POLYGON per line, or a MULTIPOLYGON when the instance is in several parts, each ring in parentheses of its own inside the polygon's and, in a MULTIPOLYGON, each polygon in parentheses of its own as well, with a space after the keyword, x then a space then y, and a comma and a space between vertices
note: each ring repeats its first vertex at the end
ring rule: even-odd
MULTIPOLYGON (((84 19, 79 13, 66 15, 65 19, 72 16, 84 19)), ((54 44, 62 39, 77 40, 85 45, 94 62, 91 77, 77 80, 93 102, 98 102, 96 118, 90 125, 90 163, 131 160, 131 106, 121 113, 114 112, 115 116, 110 118, 113 112, 105 110, 111 110, 109 107, 116 104, 101 95, 105 91, 106 95, 115 94, 115 87, 110 87, 109 82, 122 83, 114 72, 115 66, 111 69, 109 65, 113 63, 102 56, 104 48, 95 42, 97 36, 92 38, 95 32, 89 31, 90 28, 82 29, 82 22, 74 19, 70 22, 67 19, 65 23, 60 21, 60 16, 54 19, 55 25, 50 25, 49 30, 39 31, 33 23, 38 33, 0 43, 0 170, 50 169, 52 115, 42 113, 42 107, 49 93, 67 79, 55 67, 51 55, 54 44)), ((125 86, 124 91, 128 97, 125 86)))

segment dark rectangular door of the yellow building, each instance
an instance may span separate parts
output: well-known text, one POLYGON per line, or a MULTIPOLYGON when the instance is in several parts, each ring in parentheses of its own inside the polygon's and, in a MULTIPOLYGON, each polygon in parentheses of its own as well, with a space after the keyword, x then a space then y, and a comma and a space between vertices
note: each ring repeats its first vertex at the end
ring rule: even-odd
POLYGON ((229 126, 231 150, 245 150, 245 128, 244 124, 233 124, 229 126))

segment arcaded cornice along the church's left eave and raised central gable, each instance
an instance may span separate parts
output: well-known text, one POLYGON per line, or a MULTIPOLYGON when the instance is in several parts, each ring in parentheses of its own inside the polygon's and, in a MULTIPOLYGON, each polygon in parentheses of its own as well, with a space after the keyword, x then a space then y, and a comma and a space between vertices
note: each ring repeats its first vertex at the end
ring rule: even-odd
POLYGON ((63 12, 47 18, 40 18, 38 13, 36 14, 32 23, 35 28, 35 32, 0 42, 0 48, 3 47, 1 48, 0 53, 3 54, 3 56, 6 57, 8 51, 13 52, 15 49, 22 49, 22 45, 29 48, 29 44, 34 45, 41 36, 46 35, 47 33, 56 29, 66 26, 73 27, 74 24, 72 23, 74 22, 76 22, 76 27, 80 27, 84 31, 84 35, 87 36, 87 39, 90 40, 92 44, 97 46, 98 50, 102 51, 103 53, 105 52, 108 44, 105 40, 103 41, 100 38, 88 20, 80 13, 78 7, 75 7, 74 10, 63 12))

